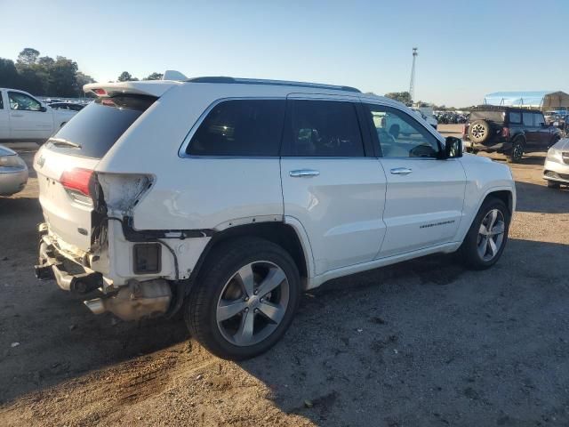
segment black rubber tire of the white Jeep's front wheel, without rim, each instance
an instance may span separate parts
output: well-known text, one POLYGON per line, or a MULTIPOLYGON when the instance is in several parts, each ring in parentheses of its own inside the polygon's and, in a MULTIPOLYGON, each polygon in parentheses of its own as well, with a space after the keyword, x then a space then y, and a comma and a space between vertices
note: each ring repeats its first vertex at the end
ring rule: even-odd
POLYGON ((470 225, 469 232, 467 233, 461 247, 458 250, 458 255, 461 259, 461 262, 463 262, 467 268, 472 270, 485 270, 492 267, 493 264, 498 262, 502 252, 504 251, 504 247, 506 247, 506 243, 508 242, 510 220, 511 213, 509 212, 508 206, 506 206, 504 202, 502 202, 499 198, 487 197, 482 206, 480 206, 477 216, 474 218, 472 225, 470 225), (486 215, 494 209, 497 209, 501 212, 504 222, 504 231, 501 240, 501 246, 498 249, 497 253, 493 255, 492 259, 485 260, 478 252, 478 245, 480 243, 479 230, 482 222, 485 220, 486 215))

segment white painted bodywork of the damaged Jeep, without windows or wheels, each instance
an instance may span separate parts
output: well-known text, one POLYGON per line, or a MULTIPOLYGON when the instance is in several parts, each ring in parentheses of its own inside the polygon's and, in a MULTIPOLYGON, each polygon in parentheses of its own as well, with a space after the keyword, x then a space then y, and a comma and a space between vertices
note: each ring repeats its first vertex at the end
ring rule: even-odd
MULTIPOLYGON (((95 89, 100 85, 89 85, 95 89)), ((66 199, 58 184, 42 180, 65 167, 94 168, 106 197, 120 198, 120 176, 151 177, 152 186, 136 205, 109 204, 109 216, 132 216, 135 230, 212 230, 223 232, 255 222, 284 222, 301 242, 307 264, 306 287, 330 278, 369 270, 424 254, 451 252, 461 245, 487 194, 515 187, 509 168, 485 157, 436 160, 376 157, 190 157, 185 147, 197 125, 216 101, 225 99, 286 99, 343 96, 407 109, 381 97, 339 90, 287 85, 128 82, 102 86, 108 91, 159 96, 99 160, 63 156, 57 172, 42 171, 40 201, 50 232, 61 242, 89 254, 90 211, 66 199), (299 95, 301 93, 301 95, 299 95), (92 163, 85 163, 85 162, 92 163), (389 171, 409 167, 401 176, 389 171), (291 177, 293 170, 317 170, 312 177, 291 177), (110 196, 109 196, 110 194, 110 196)), ((81 113, 79 113, 81 114, 81 113)), ((413 114, 413 113, 412 113, 413 114)), ((421 118, 438 141, 444 138, 421 118)), ((39 156, 39 153, 38 153, 39 156)), ((47 158, 57 162, 57 157, 47 158)), ((164 238, 180 260, 180 278, 188 278, 209 237, 164 238)), ((132 273, 132 242, 119 222, 109 222, 108 254, 93 268, 116 285, 132 273)), ((160 274, 173 279, 173 257, 163 250, 160 274)), ((91 254, 92 255, 92 254, 91 254)), ((149 278, 149 277, 148 277, 149 278)))

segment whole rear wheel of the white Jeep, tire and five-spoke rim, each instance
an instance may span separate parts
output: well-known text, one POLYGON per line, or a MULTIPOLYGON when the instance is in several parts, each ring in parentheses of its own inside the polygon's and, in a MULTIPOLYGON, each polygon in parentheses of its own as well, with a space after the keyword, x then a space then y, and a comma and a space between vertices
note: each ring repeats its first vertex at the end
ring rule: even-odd
POLYGON ((284 335, 300 294, 299 271, 281 246, 238 238, 208 255, 186 302, 186 324, 216 356, 250 359, 284 335))

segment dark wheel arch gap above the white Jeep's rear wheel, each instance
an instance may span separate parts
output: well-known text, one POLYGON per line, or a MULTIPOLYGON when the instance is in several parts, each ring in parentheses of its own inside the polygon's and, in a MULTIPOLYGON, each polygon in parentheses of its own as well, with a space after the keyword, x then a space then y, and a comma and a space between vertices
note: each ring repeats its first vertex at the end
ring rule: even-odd
POLYGON ((312 274, 311 254, 307 252, 304 238, 299 237, 297 228, 285 222, 257 222, 243 225, 236 225, 228 229, 217 231, 212 239, 205 246, 204 251, 196 262, 192 270, 189 282, 193 283, 199 276, 199 272, 205 260, 212 253, 212 249, 227 243, 229 240, 244 237, 264 238, 278 246, 284 248, 291 255, 301 275, 302 286, 307 287, 312 274))

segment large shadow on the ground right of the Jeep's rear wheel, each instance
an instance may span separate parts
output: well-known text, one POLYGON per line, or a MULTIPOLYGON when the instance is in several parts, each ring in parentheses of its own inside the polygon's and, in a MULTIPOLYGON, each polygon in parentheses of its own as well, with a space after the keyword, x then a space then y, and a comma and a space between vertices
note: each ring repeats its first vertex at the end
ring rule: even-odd
POLYGON ((317 425, 541 420, 569 381, 557 348, 569 350, 567 256, 514 239, 490 270, 434 255, 336 280, 304 298, 275 350, 240 366, 317 425))

